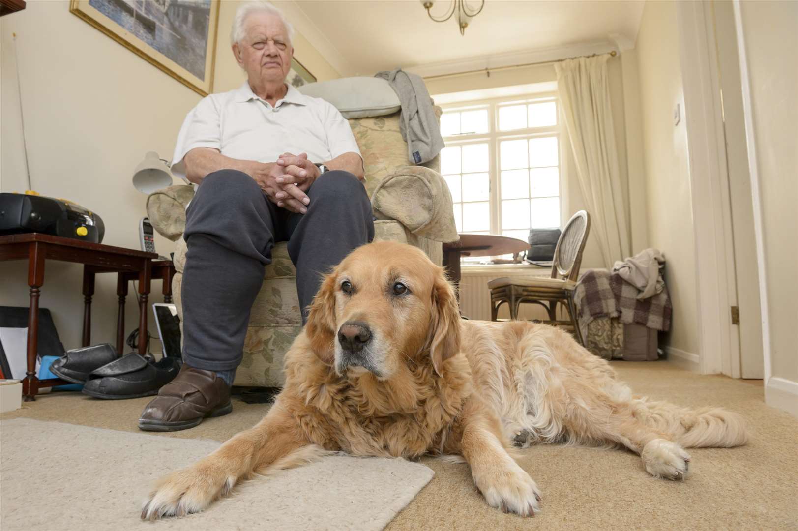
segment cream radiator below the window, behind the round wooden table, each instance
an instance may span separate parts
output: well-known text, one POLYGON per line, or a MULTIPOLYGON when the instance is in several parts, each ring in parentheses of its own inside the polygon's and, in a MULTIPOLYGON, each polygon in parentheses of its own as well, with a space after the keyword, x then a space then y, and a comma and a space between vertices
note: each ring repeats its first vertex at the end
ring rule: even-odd
MULTIPOLYGON (((491 292, 488 282, 502 276, 510 278, 549 277, 551 269, 527 265, 462 266, 460 269, 460 311, 468 319, 491 320, 491 292)), ((507 304, 499 308, 499 319, 509 319, 507 304)), ((536 304, 522 304, 519 319, 547 319, 546 311, 536 304)))

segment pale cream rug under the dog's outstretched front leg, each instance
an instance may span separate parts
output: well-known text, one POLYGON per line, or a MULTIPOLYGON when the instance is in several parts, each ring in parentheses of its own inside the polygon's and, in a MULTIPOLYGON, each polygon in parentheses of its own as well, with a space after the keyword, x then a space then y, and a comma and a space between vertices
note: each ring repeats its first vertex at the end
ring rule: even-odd
POLYGON ((333 455, 247 481, 203 513, 139 519, 160 476, 219 442, 0 421, 0 529, 382 529, 433 478, 403 459, 333 455))

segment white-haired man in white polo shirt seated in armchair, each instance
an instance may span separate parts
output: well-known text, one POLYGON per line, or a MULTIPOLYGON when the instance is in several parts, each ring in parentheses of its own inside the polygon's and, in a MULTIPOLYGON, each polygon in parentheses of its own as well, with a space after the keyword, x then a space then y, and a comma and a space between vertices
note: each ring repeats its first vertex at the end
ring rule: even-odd
POLYGON ((247 82, 188 113, 172 171, 199 184, 186 212, 180 374, 144 408, 141 430, 174 431, 231 411, 250 308, 275 242, 287 241, 307 306, 322 273, 373 238, 363 161, 341 113, 286 84, 293 29, 266 2, 236 13, 247 82))

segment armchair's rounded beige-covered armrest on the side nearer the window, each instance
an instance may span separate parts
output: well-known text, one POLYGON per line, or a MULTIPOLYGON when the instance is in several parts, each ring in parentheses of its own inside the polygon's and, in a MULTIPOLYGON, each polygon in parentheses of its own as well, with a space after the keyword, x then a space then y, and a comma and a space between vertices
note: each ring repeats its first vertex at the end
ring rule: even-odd
POLYGON ((460 240, 452 194, 444 178, 433 169, 395 169, 374 188, 371 206, 377 219, 397 220, 418 236, 443 243, 460 240))

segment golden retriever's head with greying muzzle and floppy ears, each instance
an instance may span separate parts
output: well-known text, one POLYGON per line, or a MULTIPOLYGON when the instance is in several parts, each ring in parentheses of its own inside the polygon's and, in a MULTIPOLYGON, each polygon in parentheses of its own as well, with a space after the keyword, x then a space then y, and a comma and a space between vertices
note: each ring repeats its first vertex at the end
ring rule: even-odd
POLYGON ((326 277, 306 331, 338 374, 369 371, 385 380, 430 350, 440 374, 438 365, 459 350, 459 319, 440 267, 417 248, 377 242, 326 277))

